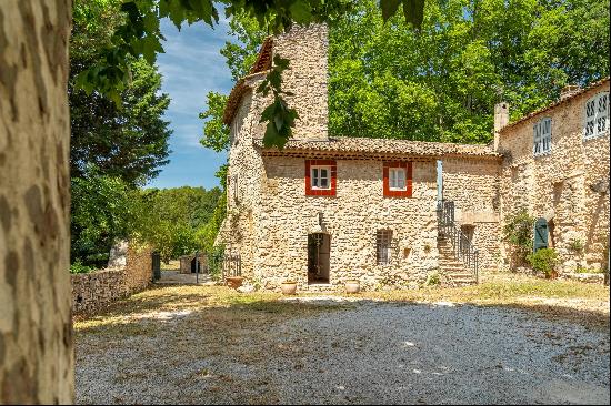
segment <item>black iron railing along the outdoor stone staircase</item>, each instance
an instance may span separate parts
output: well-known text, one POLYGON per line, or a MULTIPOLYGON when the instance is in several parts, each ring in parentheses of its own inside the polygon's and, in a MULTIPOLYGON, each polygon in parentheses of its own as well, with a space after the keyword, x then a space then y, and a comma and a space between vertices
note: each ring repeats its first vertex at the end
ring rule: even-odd
POLYGON ((440 237, 450 240, 454 256, 462 261, 467 268, 473 273, 475 282, 479 283, 479 251, 454 222, 454 202, 438 201, 437 216, 440 237))

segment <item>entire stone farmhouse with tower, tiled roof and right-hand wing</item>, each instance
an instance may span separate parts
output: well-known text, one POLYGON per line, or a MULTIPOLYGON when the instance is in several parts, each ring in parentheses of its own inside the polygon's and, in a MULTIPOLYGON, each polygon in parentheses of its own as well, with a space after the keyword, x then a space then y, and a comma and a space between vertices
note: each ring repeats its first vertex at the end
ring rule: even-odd
POLYGON ((228 216, 217 243, 240 253, 244 277, 313 291, 349 280, 413 286, 434 273, 474 283, 511 266, 502 227, 521 209, 539 219, 563 272, 607 265, 609 79, 570 87, 513 123, 499 103, 490 145, 329 136, 327 54, 325 26, 270 38, 229 97, 228 216), (259 122, 270 99, 257 87, 274 54, 291 61, 283 89, 300 115, 282 150, 263 146, 259 122))

